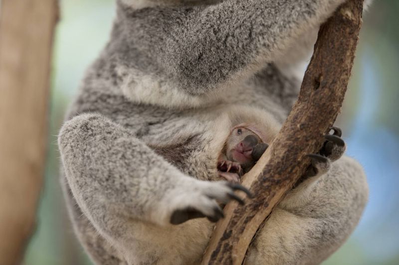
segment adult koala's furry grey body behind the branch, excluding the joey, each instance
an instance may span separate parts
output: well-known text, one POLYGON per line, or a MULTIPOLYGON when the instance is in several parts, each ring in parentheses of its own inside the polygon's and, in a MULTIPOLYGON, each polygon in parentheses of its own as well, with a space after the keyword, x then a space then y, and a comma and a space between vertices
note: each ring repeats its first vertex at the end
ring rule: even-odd
MULTIPOLYGON (((292 67, 344 0, 119 0, 58 142, 75 232, 97 264, 199 264, 205 218, 231 189, 216 162, 231 126, 273 137, 297 97, 292 67), (309 41, 308 41, 309 40, 309 41), (295 56, 292 56, 295 55, 295 56)), ((317 264, 355 228, 368 197, 349 158, 303 181, 271 214, 247 264, 317 264)))

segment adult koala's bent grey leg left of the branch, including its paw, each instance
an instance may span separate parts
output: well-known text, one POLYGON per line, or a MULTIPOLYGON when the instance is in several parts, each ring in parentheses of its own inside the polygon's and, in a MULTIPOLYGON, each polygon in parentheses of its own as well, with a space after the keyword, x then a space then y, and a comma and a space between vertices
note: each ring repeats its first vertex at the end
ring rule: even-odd
POLYGON ((132 220, 158 226, 198 217, 217 221, 223 212, 216 200, 241 201, 233 191, 245 190, 184 175, 129 130, 99 114, 67 121, 58 143, 77 204, 107 239, 128 240, 132 220))

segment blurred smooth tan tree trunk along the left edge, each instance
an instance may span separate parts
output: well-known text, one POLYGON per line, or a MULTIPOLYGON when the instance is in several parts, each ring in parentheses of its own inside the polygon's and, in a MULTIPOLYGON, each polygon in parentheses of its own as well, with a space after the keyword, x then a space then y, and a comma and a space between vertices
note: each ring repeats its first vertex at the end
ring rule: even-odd
POLYGON ((0 264, 18 264, 35 226, 47 138, 57 0, 0 0, 0 264))

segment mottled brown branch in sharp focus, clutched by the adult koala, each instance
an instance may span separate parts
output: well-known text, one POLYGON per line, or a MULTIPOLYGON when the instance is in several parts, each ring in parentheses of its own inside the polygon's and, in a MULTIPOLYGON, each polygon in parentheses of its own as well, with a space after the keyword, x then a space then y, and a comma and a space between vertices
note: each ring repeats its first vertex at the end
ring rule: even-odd
POLYGON ((241 265, 255 232, 273 207, 303 175, 334 123, 348 86, 363 0, 350 0, 321 26, 299 98, 281 131, 243 179, 254 199, 245 206, 230 203, 216 224, 202 264, 241 265))

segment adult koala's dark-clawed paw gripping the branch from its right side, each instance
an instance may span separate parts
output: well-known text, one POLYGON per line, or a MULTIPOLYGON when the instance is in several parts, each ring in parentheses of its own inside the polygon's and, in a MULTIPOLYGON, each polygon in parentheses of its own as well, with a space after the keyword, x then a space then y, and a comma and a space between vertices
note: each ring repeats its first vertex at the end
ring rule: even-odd
POLYGON ((332 135, 325 135, 323 147, 319 154, 309 154, 307 157, 311 159, 311 165, 306 170, 305 177, 320 176, 325 174, 330 169, 331 162, 334 162, 342 157, 345 152, 345 142, 341 139, 342 131, 338 127, 331 127, 332 135))

